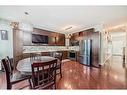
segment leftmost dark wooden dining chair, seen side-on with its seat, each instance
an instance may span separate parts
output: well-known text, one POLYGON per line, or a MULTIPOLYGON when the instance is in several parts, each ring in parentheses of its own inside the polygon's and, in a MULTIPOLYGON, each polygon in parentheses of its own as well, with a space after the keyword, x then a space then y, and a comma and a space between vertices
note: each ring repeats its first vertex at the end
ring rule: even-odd
POLYGON ((19 83, 24 80, 29 80, 31 76, 21 74, 20 72, 13 73, 13 69, 11 68, 10 61, 8 58, 2 59, 2 64, 4 66, 5 72, 6 72, 6 83, 7 83, 7 89, 12 89, 12 85, 19 83))

